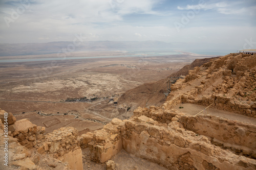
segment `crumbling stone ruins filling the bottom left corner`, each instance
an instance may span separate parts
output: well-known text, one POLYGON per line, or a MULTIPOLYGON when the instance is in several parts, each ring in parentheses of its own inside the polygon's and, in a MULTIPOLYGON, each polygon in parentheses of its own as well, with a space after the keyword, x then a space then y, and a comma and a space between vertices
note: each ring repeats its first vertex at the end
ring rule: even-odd
MULTIPOLYGON (((4 134, 5 111, 0 109, 0 155, 5 155, 2 143, 8 138, 8 166, 0 164, 0 169, 82 170, 82 152, 77 142, 78 132, 73 127, 60 128, 44 135, 45 127, 32 124, 28 119, 16 118, 8 113, 8 137, 4 134), (43 157, 44 159, 40 159, 43 157)), ((1 159, 2 162, 2 159, 1 159)))

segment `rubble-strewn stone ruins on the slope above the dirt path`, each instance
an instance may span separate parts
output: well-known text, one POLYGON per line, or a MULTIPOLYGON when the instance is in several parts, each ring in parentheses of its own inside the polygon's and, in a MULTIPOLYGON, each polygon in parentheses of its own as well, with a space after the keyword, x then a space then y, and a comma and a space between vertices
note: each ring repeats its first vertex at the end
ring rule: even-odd
POLYGON ((255 67, 256 55, 230 54, 212 60, 191 70, 185 80, 178 80, 163 107, 170 109, 181 102, 205 106, 215 103, 216 108, 256 117, 255 67), (214 85, 216 81, 220 84, 214 85), (191 86, 193 83, 196 85, 191 86), (208 88, 211 93, 204 94, 208 88))

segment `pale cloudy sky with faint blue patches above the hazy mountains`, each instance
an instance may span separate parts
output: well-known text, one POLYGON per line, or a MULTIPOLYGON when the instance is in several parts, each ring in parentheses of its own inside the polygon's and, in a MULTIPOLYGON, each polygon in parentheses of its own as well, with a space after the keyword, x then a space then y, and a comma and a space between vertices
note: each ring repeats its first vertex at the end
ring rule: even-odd
POLYGON ((256 48, 256 0, 0 0, 0 43, 164 41, 256 48))

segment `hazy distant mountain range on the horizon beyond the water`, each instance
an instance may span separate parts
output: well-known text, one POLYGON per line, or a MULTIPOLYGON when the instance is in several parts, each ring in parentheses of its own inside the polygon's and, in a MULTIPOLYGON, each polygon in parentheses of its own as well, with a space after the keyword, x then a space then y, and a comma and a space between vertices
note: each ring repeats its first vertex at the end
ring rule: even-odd
POLYGON ((0 56, 54 54, 82 51, 172 51, 173 45, 162 41, 60 41, 48 43, 0 44, 0 56), (65 49, 66 50, 63 50, 65 49))

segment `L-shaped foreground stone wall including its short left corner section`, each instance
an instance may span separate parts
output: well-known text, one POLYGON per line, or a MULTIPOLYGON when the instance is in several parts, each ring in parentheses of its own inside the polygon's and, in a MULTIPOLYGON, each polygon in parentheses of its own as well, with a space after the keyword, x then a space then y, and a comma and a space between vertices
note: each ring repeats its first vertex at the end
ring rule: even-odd
POLYGON ((80 143, 99 162, 124 149, 168 169, 256 168, 255 160, 224 151, 207 137, 176 126, 179 124, 177 119, 161 124, 144 115, 124 121, 114 118, 103 129, 82 135, 80 143))

